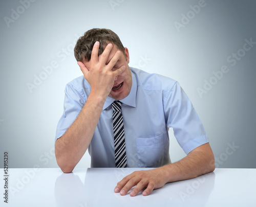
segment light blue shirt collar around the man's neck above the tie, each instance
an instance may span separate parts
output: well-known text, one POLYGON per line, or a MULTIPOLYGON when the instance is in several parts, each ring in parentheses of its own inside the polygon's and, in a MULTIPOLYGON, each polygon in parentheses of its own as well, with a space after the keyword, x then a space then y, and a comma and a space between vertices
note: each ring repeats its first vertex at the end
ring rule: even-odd
MULTIPOLYGON (((134 75, 134 73, 132 72, 132 88, 130 91, 130 94, 125 97, 124 99, 120 100, 120 102, 132 106, 132 107, 136 107, 136 95, 137 95, 137 79, 134 75)), ((110 98, 109 96, 106 97, 106 101, 104 103, 103 106, 103 110, 105 110, 106 108, 108 108, 114 101, 116 101, 113 98, 110 98)))

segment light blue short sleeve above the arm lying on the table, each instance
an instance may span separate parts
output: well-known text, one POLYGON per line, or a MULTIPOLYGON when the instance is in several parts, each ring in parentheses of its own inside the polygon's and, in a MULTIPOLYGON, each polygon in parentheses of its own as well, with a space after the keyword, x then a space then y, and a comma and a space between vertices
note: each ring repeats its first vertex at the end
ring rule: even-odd
POLYGON ((173 128, 174 136, 186 154, 209 142, 194 106, 178 82, 166 94, 164 113, 167 127, 173 128))

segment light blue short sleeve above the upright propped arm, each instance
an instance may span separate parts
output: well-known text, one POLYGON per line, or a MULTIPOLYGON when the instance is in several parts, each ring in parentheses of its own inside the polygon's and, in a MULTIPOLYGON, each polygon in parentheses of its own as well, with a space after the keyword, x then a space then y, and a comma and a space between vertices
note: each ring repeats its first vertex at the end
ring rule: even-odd
POLYGON ((82 91, 76 89, 71 83, 68 83, 66 85, 64 110, 57 125, 55 142, 68 130, 68 128, 76 120, 85 103, 85 98, 82 95, 82 91))

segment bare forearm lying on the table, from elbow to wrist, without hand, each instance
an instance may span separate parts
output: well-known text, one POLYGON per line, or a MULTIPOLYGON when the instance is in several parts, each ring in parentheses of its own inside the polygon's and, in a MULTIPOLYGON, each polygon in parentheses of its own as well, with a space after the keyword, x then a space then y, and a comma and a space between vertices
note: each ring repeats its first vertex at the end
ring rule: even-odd
POLYGON ((215 170, 214 154, 207 143, 191 151, 177 163, 168 164, 159 169, 164 173, 167 182, 195 178, 215 170))

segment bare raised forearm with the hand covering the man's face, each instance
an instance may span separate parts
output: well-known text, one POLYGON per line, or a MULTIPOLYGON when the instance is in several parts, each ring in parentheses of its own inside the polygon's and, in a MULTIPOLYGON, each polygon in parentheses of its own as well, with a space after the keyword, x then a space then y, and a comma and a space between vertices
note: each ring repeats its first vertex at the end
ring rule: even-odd
POLYGON ((84 63, 77 62, 84 78, 91 86, 91 92, 77 119, 55 143, 56 160, 63 172, 72 172, 88 149, 106 97, 110 95, 117 77, 125 70, 125 65, 112 70, 119 60, 120 51, 116 51, 110 62, 105 64, 113 49, 113 44, 109 43, 107 46, 101 54, 102 58, 99 59, 99 42, 96 41, 91 60, 84 61, 84 63), (85 63, 87 66, 84 65, 85 63))

